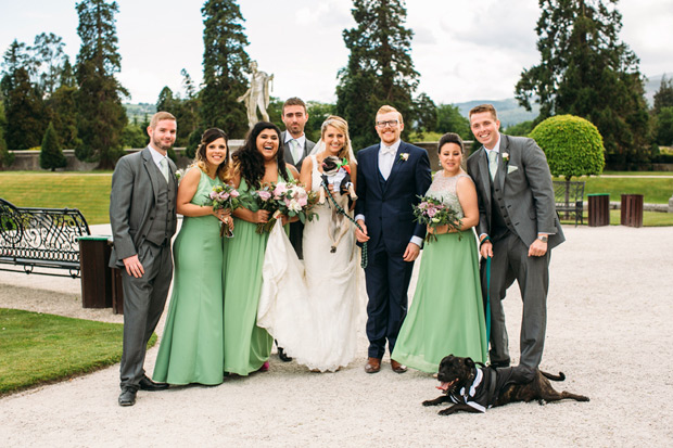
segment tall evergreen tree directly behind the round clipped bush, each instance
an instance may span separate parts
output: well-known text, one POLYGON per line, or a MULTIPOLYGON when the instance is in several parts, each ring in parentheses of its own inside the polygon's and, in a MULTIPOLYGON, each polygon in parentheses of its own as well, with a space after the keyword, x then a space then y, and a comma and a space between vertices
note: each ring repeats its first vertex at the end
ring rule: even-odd
POLYGON ((538 65, 517 84, 519 103, 541 105, 537 121, 551 115, 584 117, 604 137, 614 167, 645 162, 650 140, 639 61, 619 40, 618 0, 539 0, 538 65))

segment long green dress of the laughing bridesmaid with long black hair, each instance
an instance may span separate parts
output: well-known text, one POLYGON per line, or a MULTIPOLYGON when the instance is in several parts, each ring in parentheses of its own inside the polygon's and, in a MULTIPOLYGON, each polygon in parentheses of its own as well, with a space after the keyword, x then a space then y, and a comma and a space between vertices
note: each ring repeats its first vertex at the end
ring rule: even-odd
MULTIPOLYGON (((245 194, 249 189, 245 179, 241 179, 239 192, 245 194)), ((233 218, 234 236, 225 241, 225 372, 239 375, 259 370, 274 345, 269 333, 256 324, 262 267, 269 238, 268 233, 258 234, 256 229, 256 223, 233 218)))

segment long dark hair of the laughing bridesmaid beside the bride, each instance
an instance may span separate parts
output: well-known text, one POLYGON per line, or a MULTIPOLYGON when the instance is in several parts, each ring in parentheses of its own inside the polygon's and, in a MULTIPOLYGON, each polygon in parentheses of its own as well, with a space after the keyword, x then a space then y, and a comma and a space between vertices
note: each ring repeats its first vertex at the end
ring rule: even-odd
POLYGON ((278 153, 276 153, 278 172, 283 179, 289 179, 288 169, 285 168, 285 157, 283 155, 283 143, 280 141, 280 129, 272 123, 259 121, 247 135, 243 146, 231 156, 236 169, 241 174, 241 177, 245 179, 249 187, 254 189, 259 189, 259 187, 262 187, 261 181, 265 172, 264 157, 259 151, 257 151, 257 137, 259 137, 265 129, 274 129, 278 135, 278 153))

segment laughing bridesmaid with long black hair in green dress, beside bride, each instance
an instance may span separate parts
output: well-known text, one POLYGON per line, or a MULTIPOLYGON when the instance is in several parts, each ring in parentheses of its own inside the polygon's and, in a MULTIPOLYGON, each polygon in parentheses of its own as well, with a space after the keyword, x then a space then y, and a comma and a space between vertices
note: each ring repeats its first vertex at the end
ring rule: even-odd
MULTIPOLYGON (((233 185, 241 194, 264 184, 299 178, 284 163, 280 129, 272 123, 257 123, 243 146, 232 155, 233 185)), ((225 263, 225 371, 247 375, 267 371, 274 338, 257 327, 257 304, 262 291, 262 267, 268 233, 258 234, 257 223, 267 222, 269 212, 233 212, 236 236, 228 242, 225 263)), ((282 223, 289 222, 282 216, 282 223)), ((295 218, 296 219, 296 218, 295 218)))

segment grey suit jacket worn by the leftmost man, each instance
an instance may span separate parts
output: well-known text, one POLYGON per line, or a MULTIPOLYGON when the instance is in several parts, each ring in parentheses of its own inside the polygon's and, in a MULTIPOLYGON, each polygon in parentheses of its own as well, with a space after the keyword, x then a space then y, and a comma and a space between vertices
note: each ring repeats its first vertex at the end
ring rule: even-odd
MULTIPOLYGON (((177 182, 176 166, 170 158, 168 169, 168 181, 177 182)), ((117 162, 110 192, 110 225, 114 239, 110 267, 124 267, 122 260, 138 253, 138 247, 144 241, 142 235, 147 233, 154 218, 158 182, 164 181, 161 176, 149 148, 126 155, 117 162)), ((175 210, 176 197, 170 201, 172 209, 175 210)), ((168 229, 170 235, 175 234, 176 219, 173 222, 174 227, 168 229)))

